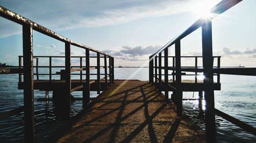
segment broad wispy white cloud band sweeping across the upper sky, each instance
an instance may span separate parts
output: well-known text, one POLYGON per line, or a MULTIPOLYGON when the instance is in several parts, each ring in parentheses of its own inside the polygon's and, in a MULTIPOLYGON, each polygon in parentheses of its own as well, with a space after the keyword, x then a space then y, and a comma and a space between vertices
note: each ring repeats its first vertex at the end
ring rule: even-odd
MULTIPOLYGON (((219 0, 208 1, 213 6, 219 0)), ((0 0, 1 2, 1 0, 0 0)), ((2 6, 54 31, 125 23, 140 18, 159 17, 193 11, 199 0, 183 1, 2 1, 2 6)), ((0 19, 0 37, 20 34, 17 24, 0 19)), ((20 26, 21 27, 21 26, 20 26)))

